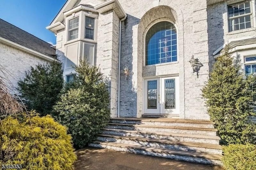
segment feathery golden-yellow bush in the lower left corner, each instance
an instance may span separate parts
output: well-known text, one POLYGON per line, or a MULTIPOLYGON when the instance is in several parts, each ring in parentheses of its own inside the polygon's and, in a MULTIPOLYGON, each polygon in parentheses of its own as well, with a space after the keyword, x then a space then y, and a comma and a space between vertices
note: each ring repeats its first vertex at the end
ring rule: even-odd
POLYGON ((73 170, 76 154, 66 127, 34 111, 0 125, 0 163, 21 164, 26 170, 73 170))

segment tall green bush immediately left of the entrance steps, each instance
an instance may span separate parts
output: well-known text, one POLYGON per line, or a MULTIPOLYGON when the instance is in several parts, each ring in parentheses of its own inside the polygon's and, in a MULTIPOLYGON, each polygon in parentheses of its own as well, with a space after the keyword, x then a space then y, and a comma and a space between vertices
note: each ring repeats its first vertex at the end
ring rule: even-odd
POLYGON ((54 111, 56 120, 68 127, 76 147, 82 148, 107 125, 109 94, 98 67, 80 61, 75 71, 77 77, 68 84, 69 89, 63 90, 65 93, 54 106, 54 111))

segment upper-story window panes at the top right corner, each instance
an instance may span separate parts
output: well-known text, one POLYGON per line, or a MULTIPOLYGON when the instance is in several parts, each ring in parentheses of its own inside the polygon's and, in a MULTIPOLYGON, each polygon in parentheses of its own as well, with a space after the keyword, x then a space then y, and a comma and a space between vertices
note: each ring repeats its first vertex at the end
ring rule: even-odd
POLYGON ((255 4, 248 0, 228 5, 229 31, 246 29, 253 25, 256 16, 252 12, 252 5, 255 4))

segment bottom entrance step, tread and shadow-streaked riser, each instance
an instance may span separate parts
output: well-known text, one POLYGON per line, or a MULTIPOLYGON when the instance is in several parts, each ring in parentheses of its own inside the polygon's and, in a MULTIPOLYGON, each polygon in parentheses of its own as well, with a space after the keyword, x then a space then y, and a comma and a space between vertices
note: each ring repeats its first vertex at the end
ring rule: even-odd
POLYGON ((155 147, 142 147, 140 145, 132 145, 126 143, 116 143, 116 142, 102 142, 94 141, 89 144, 90 147, 97 148, 107 148, 124 152, 132 152, 137 154, 144 154, 150 156, 158 156, 164 158, 171 158, 176 160, 185 160, 189 162, 198 162, 204 164, 215 164, 222 165, 221 155, 218 154, 208 154, 208 153, 198 153, 198 152, 188 152, 183 150, 171 150, 155 147))

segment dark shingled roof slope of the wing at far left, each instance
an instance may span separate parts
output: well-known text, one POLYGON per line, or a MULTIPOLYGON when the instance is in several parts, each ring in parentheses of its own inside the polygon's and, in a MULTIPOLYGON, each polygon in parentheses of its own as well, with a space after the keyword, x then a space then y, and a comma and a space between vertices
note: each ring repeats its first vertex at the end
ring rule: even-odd
POLYGON ((0 19, 0 37, 55 59, 56 51, 51 44, 0 19))

